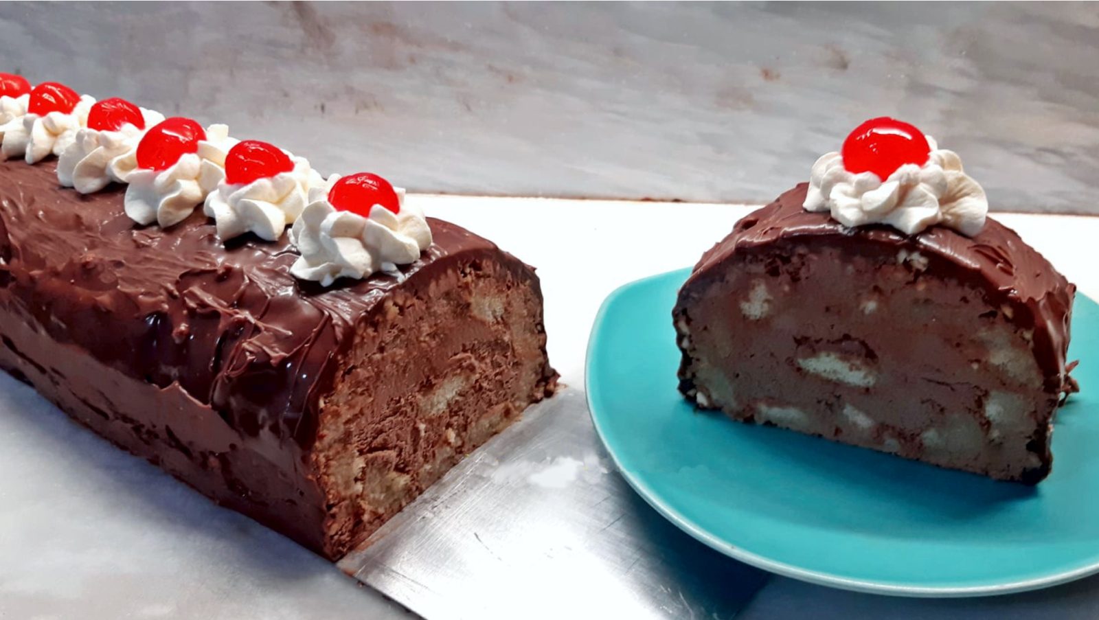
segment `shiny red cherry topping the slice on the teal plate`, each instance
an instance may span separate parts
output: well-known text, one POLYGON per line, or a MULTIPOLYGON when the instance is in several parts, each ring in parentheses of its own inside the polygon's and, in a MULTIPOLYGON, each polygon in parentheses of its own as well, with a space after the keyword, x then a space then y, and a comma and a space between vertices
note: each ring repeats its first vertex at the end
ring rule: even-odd
POLYGON ((889 178, 904 164, 928 163, 931 146, 923 132, 914 126, 881 117, 855 128, 843 141, 843 167, 848 173, 874 173, 881 180, 889 178))

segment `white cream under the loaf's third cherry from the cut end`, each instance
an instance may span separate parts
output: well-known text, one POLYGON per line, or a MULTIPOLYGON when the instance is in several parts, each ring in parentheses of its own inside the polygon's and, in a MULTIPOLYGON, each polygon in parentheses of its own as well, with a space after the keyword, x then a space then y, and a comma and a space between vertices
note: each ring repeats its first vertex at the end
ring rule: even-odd
POLYGON ((125 211, 130 219, 168 228, 187 219, 225 178, 225 155, 236 144, 225 125, 210 125, 196 153, 187 153, 163 170, 137 168, 126 176, 125 211))

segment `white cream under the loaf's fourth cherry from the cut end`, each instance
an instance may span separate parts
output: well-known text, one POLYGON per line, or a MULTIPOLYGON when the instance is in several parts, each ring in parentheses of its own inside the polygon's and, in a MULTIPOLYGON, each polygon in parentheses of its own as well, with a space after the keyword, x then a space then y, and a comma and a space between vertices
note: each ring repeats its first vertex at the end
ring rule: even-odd
POLYGON ((93 193, 111 181, 126 182, 137 168, 137 143, 145 132, 164 120, 153 110, 141 109, 145 129, 132 123, 118 131, 84 128, 57 160, 57 180, 80 193, 93 193))

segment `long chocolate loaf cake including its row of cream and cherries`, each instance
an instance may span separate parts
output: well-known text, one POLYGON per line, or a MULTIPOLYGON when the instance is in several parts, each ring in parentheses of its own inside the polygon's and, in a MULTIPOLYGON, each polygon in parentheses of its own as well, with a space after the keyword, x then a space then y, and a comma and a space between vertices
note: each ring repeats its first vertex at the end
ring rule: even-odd
POLYGON ((0 125, 0 367, 69 416, 337 558, 553 392, 531 267, 380 177, 119 101, 51 125, 60 175, 0 125))

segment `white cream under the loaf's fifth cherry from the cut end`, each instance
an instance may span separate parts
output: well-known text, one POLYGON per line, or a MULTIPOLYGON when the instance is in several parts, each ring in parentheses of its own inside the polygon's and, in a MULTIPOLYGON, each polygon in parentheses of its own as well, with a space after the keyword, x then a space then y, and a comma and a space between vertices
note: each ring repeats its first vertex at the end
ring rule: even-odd
POLYGON ((93 97, 82 95, 71 112, 55 111, 44 117, 27 112, 8 121, 0 126, 0 156, 11 159, 22 155, 27 164, 35 164, 49 155, 60 155, 88 124, 88 111, 95 103, 93 97))

